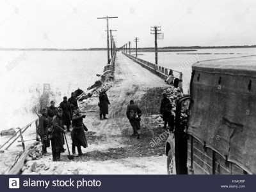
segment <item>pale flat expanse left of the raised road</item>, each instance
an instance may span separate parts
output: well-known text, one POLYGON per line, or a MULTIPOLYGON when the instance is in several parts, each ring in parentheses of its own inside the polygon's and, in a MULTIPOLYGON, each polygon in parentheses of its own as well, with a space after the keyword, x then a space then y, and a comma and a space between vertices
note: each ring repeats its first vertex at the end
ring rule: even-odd
POLYGON ((31 110, 44 84, 56 104, 78 87, 92 85, 106 65, 106 51, 1 51, 0 63, 1 131, 35 119, 31 110))

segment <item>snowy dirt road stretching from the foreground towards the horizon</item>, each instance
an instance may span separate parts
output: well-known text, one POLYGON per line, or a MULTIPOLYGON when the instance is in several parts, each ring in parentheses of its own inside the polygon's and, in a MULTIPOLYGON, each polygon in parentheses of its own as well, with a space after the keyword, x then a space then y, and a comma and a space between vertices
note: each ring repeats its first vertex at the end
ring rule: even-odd
MULTIPOLYGON (((40 174, 166 174, 164 141, 160 148, 150 147, 154 131, 150 126, 148 108, 158 109, 159 106, 154 106, 154 103, 140 106, 141 98, 149 88, 166 86, 161 78, 118 52, 114 85, 107 92, 111 103, 109 119, 99 120, 99 98, 86 107, 86 110, 97 110, 86 114, 84 119, 89 129, 86 133, 89 146, 82 149, 86 155, 73 161, 67 159, 67 152, 61 154, 60 162, 51 162, 51 157, 39 159, 37 163, 48 160, 51 166, 40 174), (130 100, 134 100, 143 111, 139 140, 131 137, 132 128, 125 115, 130 100), (63 167, 68 169, 63 170, 63 167)), ((71 147, 70 135, 68 144, 71 147)))

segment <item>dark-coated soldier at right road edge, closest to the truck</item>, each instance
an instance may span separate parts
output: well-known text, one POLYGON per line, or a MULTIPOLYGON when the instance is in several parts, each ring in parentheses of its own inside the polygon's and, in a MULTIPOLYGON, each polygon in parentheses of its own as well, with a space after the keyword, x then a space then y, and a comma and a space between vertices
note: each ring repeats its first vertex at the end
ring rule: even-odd
POLYGON ((163 94, 163 100, 161 101, 160 106, 160 114, 163 115, 163 128, 167 128, 168 122, 168 126, 170 127, 171 131, 173 131, 174 115, 172 115, 172 104, 171 101, 167 98, 166 93, 163 94))

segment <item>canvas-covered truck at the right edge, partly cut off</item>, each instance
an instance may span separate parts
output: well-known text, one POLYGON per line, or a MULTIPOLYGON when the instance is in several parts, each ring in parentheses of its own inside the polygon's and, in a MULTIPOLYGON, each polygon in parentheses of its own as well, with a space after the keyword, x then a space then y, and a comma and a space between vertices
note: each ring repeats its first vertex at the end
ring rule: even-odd
POLYGON ((166 142, 168 174, 256 174, 256 55, 193 64, 190 94, 166 142))

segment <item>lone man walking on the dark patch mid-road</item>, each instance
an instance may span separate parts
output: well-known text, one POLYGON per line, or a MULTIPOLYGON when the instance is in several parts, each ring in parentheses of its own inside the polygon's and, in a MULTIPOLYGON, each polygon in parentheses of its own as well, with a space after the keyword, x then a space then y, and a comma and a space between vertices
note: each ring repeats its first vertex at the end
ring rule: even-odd
POLYGON ((139 139, 140 138, 140 133, 138 130, 140 129, 140 117, 141 117, 141 110, 138 107, 138 105, 134 104, 134 101, 130 101, 130 105, 127 106, 126 110, 126 116, 129 119, 129 122, 132 126, 133 129, 133 134, 132 136, 136 136, 139 139))

